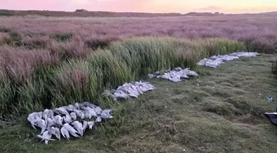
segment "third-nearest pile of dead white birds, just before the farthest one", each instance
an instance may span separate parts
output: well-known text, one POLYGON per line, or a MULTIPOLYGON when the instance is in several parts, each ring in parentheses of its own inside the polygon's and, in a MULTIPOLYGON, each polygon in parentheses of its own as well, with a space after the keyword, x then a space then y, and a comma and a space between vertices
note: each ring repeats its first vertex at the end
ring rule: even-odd
POLYGON ((154 74, 148 74, 149 78, 163 78, 163 79, 168 79, 173 82, 180 82, 181 79, 187 79, 190 76, 199 76, 196 72, 189 70, 189 68, 182 69, 180 67, 174 68, 173 70, 165 70, 162 72, 157 71, 154 74))

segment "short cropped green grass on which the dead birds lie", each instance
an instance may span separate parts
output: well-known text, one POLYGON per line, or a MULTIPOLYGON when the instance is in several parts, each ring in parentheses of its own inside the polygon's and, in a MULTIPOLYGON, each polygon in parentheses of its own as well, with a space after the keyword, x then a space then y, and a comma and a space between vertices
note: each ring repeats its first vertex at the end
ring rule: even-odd
MULTIPOLYGON (((62 138, 44 145, 24 116, 0 130, 0 148, 3 152, 275 152, 276 128, 262 115, 276 107, 264 99, 277 97, 277 80, 270 72, 274 58, 261 55, 217 69, 198 68, 199 78, 180 83, 153 79, 156 90, 138 99, 102 101, 118 109, 115 118, 86 130, 81 139, 62 138)), ((86 63, 68 65, 88 70, 86 63)), ((63 64, 53 73, 64 69, 63 64)))

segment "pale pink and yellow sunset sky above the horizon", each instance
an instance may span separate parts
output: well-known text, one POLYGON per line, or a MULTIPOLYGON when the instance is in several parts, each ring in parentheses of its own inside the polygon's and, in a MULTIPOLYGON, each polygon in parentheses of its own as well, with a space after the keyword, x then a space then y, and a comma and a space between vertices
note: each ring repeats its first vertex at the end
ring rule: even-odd
POLYGON ((277 0, 0 0, 0 9, 148 13, 259 13, 277 11, 277 0))

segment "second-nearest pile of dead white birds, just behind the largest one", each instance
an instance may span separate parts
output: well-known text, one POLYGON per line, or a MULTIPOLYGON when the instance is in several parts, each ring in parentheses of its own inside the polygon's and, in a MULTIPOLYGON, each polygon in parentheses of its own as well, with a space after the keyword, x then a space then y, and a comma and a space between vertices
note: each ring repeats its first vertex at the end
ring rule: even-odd
POLYGON ((117 87, 116 90, 108 91, 105 90, 102 95, 110 96, 113 100, 117 99, 127 99, 131 97, 138 97, 139 95, 147 92, 149 90, 154 90, 155 87, 149 82, 134 82, 134 83, 124 83, 123 85, 117 87))

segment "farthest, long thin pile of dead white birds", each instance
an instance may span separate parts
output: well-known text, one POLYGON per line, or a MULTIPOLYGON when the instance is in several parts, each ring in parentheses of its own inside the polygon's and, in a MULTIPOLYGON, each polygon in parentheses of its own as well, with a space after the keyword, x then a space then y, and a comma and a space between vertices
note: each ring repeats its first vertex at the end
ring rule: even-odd
POLYGON ((258 53, 255 53, 255 52, 238 52, 238 53, 232 53, 229 55, 212 56, 209 59, 204 58, 200 60, 200 62, 198 62, 197 65, 210 67, 210 68, 217 68, 226 61, 239 59, 239 57, 255 57, 257 55, 258 53))

